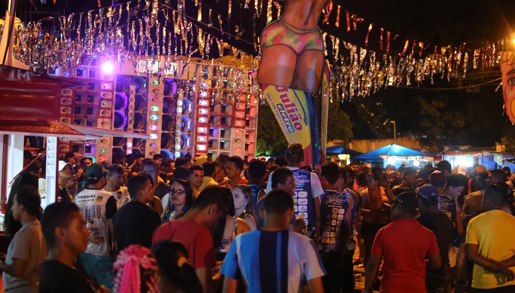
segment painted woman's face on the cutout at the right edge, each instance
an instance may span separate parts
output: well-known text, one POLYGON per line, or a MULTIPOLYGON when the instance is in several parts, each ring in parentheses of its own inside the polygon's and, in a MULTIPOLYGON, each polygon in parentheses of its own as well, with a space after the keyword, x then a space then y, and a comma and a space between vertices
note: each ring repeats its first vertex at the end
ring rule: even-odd
POLYGON ((504 107, 511 123, 515 123, 515 56, 512 52, 501 54, 504 107))

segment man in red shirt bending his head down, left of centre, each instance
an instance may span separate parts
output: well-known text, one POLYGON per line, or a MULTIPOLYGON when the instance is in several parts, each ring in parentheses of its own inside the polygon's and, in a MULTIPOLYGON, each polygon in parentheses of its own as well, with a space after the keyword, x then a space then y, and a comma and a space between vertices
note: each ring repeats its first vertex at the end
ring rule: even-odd
POLYGON ((182 217, 159 226, 152 236, 152 245, 160 240, 175 240, 188 249, 204 293, 214 292, 220 285, 220 274, 212 276, 211 273, 211 269, 216 267, 211 230, 227 216, 230 205, 221 187, 209 186, 200 192, 190 210, 182 217))

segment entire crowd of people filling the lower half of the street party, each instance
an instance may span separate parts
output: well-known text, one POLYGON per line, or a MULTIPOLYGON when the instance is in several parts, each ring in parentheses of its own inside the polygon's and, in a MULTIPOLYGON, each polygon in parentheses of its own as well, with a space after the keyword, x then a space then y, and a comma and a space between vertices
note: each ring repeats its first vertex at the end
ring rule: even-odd
POLYGON ((366 292, 515 292, 509 170, 303 160, 299 143, 250 162, 68 153, 44 211, 37 162, 6 205, 4 288, 354 292, 364 266, 366 292))

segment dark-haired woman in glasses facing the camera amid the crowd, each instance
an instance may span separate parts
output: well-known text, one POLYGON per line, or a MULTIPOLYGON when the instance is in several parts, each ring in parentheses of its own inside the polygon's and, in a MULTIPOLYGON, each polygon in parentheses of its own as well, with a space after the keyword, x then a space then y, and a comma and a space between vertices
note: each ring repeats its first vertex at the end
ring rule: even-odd
POLYGON ((161 222, 164 224, 182 216, 193 205, 193 190, 187 181, 176 180, 170 186, 170 191, 163 197, 163 215, 161 222))

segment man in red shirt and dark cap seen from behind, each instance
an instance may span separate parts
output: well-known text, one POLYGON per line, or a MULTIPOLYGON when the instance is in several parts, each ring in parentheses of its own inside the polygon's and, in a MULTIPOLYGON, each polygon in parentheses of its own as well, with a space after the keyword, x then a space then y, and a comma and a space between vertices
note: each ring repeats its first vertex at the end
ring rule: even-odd
POLYGON ((393 222, 382 227, 374 239, 365 271, 365 292, 372 292, 372 281, 384 258, 382 293, 425 293, 425 257, 428 269, 442 266, 435 234, 414 220, 417 198, 401 193, 391 206, 393 222))

